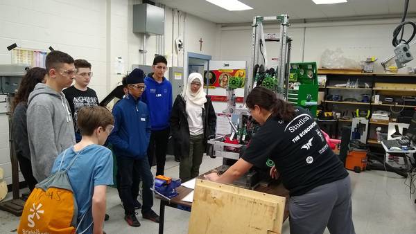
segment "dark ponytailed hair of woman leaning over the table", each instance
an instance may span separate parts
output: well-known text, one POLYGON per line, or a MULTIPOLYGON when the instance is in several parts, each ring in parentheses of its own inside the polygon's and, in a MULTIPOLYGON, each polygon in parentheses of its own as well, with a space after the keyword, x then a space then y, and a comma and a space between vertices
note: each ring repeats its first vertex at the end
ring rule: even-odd
POLYGON ((248 94, 245 104, 250 109, 254 108, 254 105, 258 105, 272 112, 272 116, 281 118, 284 121, 290 121, 295 116, 295 107, 293 105, 277 98, 275 93, 264 87, 254 88, 248 94))

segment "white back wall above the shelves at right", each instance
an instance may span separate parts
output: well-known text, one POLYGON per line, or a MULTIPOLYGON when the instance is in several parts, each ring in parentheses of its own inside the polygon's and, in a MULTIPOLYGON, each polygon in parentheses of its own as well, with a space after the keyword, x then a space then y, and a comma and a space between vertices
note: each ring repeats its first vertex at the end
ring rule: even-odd
MULTIPOLYGON (((366 57, 377 57, 379 61, 376 62, 376 71, 381 72, 379 62, 393 54, 392 31, 399 21, 400 19, 388 19, 293 24, 288 28, 288 35, 293 39, 291 62, 316 61, 319 65, 322 52, 326 48, 341 48, 345 57, 357 61, 365 60, 366 57)), ((264 28, 265 33, 279 33, 279 26, 266 25, 264 28)), ((410 30, 407 30, 407 33, 409 32, 410 30)), ((249 62, 251 34, 250 26, 220 28, 220 59, 249 62)), ((269 60, 277 54, 277 46, 273 46, 273 43, 266 44, 269 60)), ((416 46, 413 46, 411 51, 416 54, 416 46)), ((408 66, 416 66, 416 61, 408 63, 408 66)), ((400 69, 399 72, 407 72, 407 68, 400 69)))

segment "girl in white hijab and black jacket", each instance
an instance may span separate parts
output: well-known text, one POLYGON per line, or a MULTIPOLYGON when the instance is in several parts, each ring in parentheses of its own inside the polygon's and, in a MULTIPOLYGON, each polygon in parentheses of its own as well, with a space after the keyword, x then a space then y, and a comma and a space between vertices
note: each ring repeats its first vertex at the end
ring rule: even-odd
POLYGON ((202 75, 191 73, 187 87, 172 107, 171 132, 175 152, 180 155, 182 182, 198 177, 207 140, 215 136, 216 114, 203 87, 202 75))

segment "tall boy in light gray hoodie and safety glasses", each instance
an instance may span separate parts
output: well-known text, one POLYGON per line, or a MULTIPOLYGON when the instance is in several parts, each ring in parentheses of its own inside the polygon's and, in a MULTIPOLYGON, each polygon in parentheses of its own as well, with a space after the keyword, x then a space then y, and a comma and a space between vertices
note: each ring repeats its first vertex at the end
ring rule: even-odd
POLYGON ((37 181, 49 177, 58 154, 76 143, 71 111, 62 93, 75 73, 71 56, 52 51, 46 56, 46 84, 36 84, 28 98, 28 141, 37 181))

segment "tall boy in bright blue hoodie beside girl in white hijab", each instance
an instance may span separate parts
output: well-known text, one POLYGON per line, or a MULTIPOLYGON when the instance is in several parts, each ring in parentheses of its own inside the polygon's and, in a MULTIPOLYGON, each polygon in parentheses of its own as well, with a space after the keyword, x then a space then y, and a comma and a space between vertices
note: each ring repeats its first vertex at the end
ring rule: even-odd
POLYGON ((150 166, 156 156, 156 175, 164 174, 168 137, 171 134, 169 120, 172 110, 172 84, 165 77, 168 61, 157 55, 153 59, 153 73, 149 73, 144 83, 147 89, 143 93, 142 101, 148 105, 152 134, 148 148, 150 166))

